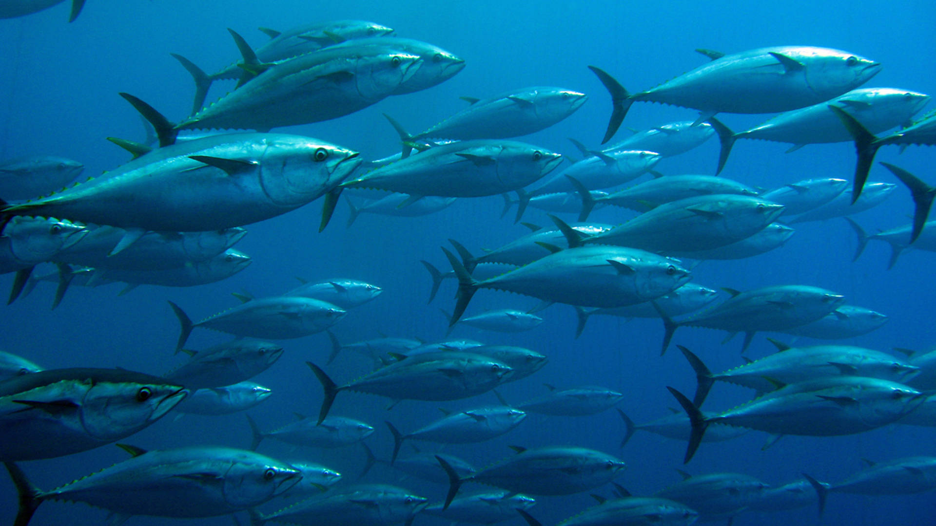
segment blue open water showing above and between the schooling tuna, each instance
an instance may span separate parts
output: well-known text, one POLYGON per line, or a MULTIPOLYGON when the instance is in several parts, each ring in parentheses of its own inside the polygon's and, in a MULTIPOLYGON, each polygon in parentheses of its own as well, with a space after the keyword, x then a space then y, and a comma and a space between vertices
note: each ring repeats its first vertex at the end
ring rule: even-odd
MULTIPOLYGON (((127 155, 106 137, 142 139, 139 117, 118 92, 138 95, 170 119, 182 119, 191 106, 189 75, 169 52, 177 52, 206 70, 227 66, 237 50, 226 28, 234 28, 255 46, 267 37, 256 26, 286 29, 293 25, 337 19, 379 22, 413 37, 439 45, 465 59, 465 69, 451 80, 411 95, 392 96, 375 106, 325 123, 285 128, 358 150, 367 158, 394 153, 398 138, 382 117, 388 113, 412 130, 435 124, 461 110, 459 96, 484 97, 528 85, 554 85, 584 92, 590 100, 567 120, 522 140, 570 155, 578 152, 567 138, 597 145, 604 134, 610 103, 607 92, 586 68, 596 65, 621 80, 632 91, 647 89, 703 64, 695 48, 734 52, 773 45, 812 45, 856 52, 884 64, 867 84, 936 92, 930 61, 936 49, 936 9, 923 1, 901 3, 785 2, 755 6, 752 2, 494 2, 461 4, 438 2, 311 3, 243 0, 158 0, 118 2, 89 0, 80 18, 66 23, 65 4, 21 19, 0 21, 0 158, 31 153, 59 154, 83 162, 86 175, 95 175, 127 160, 127 155)), ((233 85, 218 82, 209 100, 233 85)), ((929 109, 928 109, 929 110, 929 109)), ((695 119, 693 110, 638 103, 625 126, 647 128, 676 120, 695 119)), ((724 115, 733 129, 758 124, 765 115, 724 115)), ((619 133, 618 139, 626 132, 619 133)), ((851 143, 807 146, 784 153, 787 145, 739 141, 725 168, 725 177, 759 187, 776 187, 812 177, 851 180, 855 154, 851 143)), ((932 152, 911 148, 899 154, 884 149, 878 160, 892 162, 924 180, 932 176, 932 152)), ((713 173, 718 144, 665 159, 658 167, 666 174, 713 173)), ((883 168, 872 168, 870 181, 895 183, 883 168)), ((500 197, 460 199, 437 214, 421 218, 362 215, 345 228, 347 210, 340 204, 331 225, 317 233, 320 203, 248 226, 237 249, 254 262, 241 273, 216 284, 197 288, 140 286, 117 297, 119 285, 94 289, 76 287, 55 311, 49 310, 51 286, 4 307, 0 346, 47 368, 124 367, 164 373, 181 362, 172 349, 178 322, 166 300, 180 304, 193 319, 234 306, 230 292, 247 290, 256 296, 275 295, 297 284, 295 277, 321 280, 355 278, 380 285, 384 293, 348 314, 334 331, 343 342, 370 339, 380 334, 441 339, 454 301, 451 282, 443 285, 433 303, 426 300, 430 280, 420 259, 444 265, 439 246, 447 239, 461 241, 480 252, 497 247, 527 230, 501 219, 500 197)), ((885 204, 856 216, 869 231, 906 224, 913 205, 900 187, 885 204)), ((630 215, 600 210, 592 220, 619 223, 630 215)), ((542 212, 531 209, 526 221, 545 225, 542 212)), ((572 217, 567 219, 572 220, 572 217)), ((843 221, 797 225, 796 235, 782 249, 740 261, 704 263, 694 270, 694 281, 714 287, 745 290, 764 285, 816 285, 890 316, 883 329, 856 338, 854 343, 879 350, 891 347, 925 349, 933 343, 932 255, 910 251, 894 270, 886 271, 886 248, 872 244, 852 262, 854 235, 843 221)), ((5 289, 11 278, 0 278, 5 289)), ((480 291, 469 312, 487 308, 528 309, 538 301, 501 292, 480 291)), ((524 401, 546 392, 542 384, 557 387, 600 385, 627 395, 620 404, 635 421, 668 414, 675 401, 665 386, 684 392, 695 387, 695 376, 677 352, 658 356, 663 335, 659 320, 595 316, 584 334, 574 338, 576 318, 570 307, 557 305, 541 313, 546 322, 537 329, 514 335, 485 333, 459 327, 453 336, 486 343, 526 346, 549 358, 534 376, 500 390, 509 401, 524 401)), ((775 335, 774 335, 775 336, 775 335)), ((722 344, 724 333, 709 329, 680 329, 674 343, 702 356, 713 371, 741 362, 739 341, 722 344)), ((190 346, 204 348, 225 341, 223 334, 197 329, 190 346)), ((781 337, 783 339, 783 337, 781 337)), ((256 381, 271 387, 273 396, 251 414, 261 428, 285 424, 294 412, 314 414, 322 399, 321 388, 302 363, 323 363, 329 354, 324 334, 283 342, 285 356, 256 381)), ((747 356, 772 352, 758 335, 747 356)), ((338 381, 368 371, 365 358, 347 354, 327 370, 338 381)), ((746 400, 750 391, 717 386, 707 408, 726 408, 746 400)), ((491 394, 459 402, 436 404, 406 401, 385 411, 387 400, 372 395, 342 393, 332 415, 355 416, 377 431, 368 443, 387 458, 392 441, 383 421, 408 431, 441 414, 435 409, 462 409, 494 403, 491 394)), ((783 438, 761 450, 766 435, 750 432, 736 440, 707 443, 683 467, 685 444, 638 433, 623 449, 622 422, 613 412, 580 418, 529 416, 517 430, 480 445, 447 446, 447 453, 483 466, 512 454, 507 445, 576 445, 619 455, 629 464, 619 482, 634 494, 649 494, 680 480, 675 469, 692 474, 740 472, 774 485, 806 472, 837 481, 863 466, 861 459, 888 460, 933 453, 933 430, 889 426, 844 437, 783 438)), ((218 444, 245 447, 250 431, 242 415, 169 415, 151 428, 124 440, 144 448, 218 444)), ((407 446, 408 447, 408 446, 407 446)), ((429 446, 427 446, 429 448, 429 446)), ((358 446, 338 450, 293 450, 274 441, 260 449, 273 457, 307 458, 328 465, 352 479, 362 465, 358 446)), ((38 487, 52 488, 124 460, 117 447, 105 446, 60 459, 24 462, 24 470, 38 487)), ((401 479, 388 466, 376 466, 367 478, 400 484, 433 501, 444 498, 445 488, 416 479, 401 479)), ((467 489, 467 488, 466 488, 467 489)), ((476 489, 476 488, 475 488, 476 489)), ((605 494, 607 489, 598 489, 605 494)), ((592 505, 587 494, 545 497, 533 508, 544 524, 558 522, 592 505)), ((12 521, 16 497, 7 479, 0 479, 0 523, 12 521)), ((825 522, 858 525, 929 524, 936 513, 932 493, 899 497, 861 497, 836 494, 829 500, 825 522)), ((97 524, 106 512, 84 504, 44 504, 33 524, 97 524)), ((519 524, 520 519, 514 523, 519 524)), ((176 524, 174 519, 135 518, 135 524, 176 524)), ((421 524, 442 524, 440 519, 417 518, 421 524)), ((815 510, 805 508, 778 514, 741 514, 737 525, 816 523, 815 510)), ((195 521, 192 521, 195 523, 195 521)), ((227 517, 201 519, 200 524, 229 524, 227 517)))

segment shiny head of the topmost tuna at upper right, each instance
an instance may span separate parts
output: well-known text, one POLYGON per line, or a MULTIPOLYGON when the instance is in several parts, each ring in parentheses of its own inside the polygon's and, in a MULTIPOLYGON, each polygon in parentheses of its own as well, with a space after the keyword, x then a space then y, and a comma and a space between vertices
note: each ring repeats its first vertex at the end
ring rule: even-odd
POLYGON ((801 48, 792 58, 805 66, 806 82, 823 100, 864 84, 881 71, 881 64, 847 51, 801 48))

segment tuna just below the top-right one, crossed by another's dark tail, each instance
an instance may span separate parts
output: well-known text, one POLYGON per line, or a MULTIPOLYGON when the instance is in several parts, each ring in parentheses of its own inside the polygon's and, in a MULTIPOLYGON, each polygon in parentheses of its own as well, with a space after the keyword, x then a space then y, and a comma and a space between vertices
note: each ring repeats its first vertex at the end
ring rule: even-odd
POLYGON ((751 129, 735 133, 712 118, 709 123, 718 132, 722 141, 722 152, 718 158, 719 173, 728 160, 731 147, 738 139, 775 140, 789 142, 793 147, 787 152, 798 150, 807 144, 845 142, 852 140, 851 134, 841 125, 835 107, 852 116, 870 133, 880 133, 894 126, 911 122, 913 116, 929 102, 923 95, 896 88, 863 88, 845 95, 820 102, 801 110, 786 111, 768 122, 751 129))

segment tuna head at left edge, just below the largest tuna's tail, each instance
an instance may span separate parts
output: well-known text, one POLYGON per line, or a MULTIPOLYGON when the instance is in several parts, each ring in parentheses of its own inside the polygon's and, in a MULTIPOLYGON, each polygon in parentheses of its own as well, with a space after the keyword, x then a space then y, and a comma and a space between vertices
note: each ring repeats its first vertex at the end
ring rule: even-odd
POLYGON ((40 263, 75 245, 88 234, 85 226, 65 219, 14 216, 3 229, 13 256, 25 263, 40 263))

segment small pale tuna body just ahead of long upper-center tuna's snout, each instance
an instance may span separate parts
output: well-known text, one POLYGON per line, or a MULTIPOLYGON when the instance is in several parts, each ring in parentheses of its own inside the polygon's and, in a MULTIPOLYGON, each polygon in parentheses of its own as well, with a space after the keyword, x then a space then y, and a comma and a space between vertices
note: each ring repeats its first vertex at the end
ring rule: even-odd
POLYGON ((533 190, 534 195, 554 192, 574 192, 578 188, 569 181, 573 178, 588 190, 601 190, 633 181, 647 173, 663 157, 655 152, 625 150, 592 155, 549 178, 533 190))

